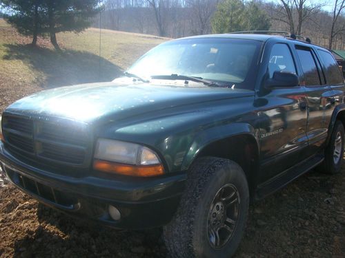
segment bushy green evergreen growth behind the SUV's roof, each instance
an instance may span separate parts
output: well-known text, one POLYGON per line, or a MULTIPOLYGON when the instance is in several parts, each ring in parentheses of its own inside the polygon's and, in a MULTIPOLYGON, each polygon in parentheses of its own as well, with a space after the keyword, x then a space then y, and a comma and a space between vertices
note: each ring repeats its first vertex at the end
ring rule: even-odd
POLYGON ((254 1, 225 0, 217 6, 212 28, 215 33, 269 30, 270 21, 266 12, 260 10, 254 1))

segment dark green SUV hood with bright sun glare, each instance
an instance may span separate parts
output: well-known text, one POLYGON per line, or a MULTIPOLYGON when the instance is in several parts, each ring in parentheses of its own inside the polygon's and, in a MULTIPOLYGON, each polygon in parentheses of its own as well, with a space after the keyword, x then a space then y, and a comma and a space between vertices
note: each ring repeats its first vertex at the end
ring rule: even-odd
POLYGON ((6 111, 30 116, 55 116, 92 123, 103 116, 117 119, 157 109, 252 96, 244 89, 180 87, 148 83, 92 83, 50 89, 13 103, 6 111))

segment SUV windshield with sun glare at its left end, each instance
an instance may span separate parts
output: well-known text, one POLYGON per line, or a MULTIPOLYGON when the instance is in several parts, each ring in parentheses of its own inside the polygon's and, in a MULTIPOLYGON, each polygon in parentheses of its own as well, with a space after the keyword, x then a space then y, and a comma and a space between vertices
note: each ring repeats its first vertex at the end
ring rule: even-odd
POLYGON ((244 39, 181 39, 158 45, 128 69, 150 79, 159 75, 193 76, 253 89, 261 42, 244 39))

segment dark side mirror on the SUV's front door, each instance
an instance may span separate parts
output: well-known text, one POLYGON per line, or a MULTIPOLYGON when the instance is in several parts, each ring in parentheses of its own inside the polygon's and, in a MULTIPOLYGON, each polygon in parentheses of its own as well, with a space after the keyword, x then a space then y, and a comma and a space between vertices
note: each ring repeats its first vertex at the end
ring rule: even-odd
POLYGON ((273 78, 268 78, 265 83, 266 88, 275 87, 295 87, 298 85, 298 77, 292 72, 275 71, 273 78))

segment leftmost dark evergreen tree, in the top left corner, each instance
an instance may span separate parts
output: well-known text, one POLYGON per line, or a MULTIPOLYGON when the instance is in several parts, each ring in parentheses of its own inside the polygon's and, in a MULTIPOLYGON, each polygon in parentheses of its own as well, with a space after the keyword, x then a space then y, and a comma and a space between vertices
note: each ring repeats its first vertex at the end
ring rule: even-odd
POLYGON ((3 0, 5 8, 12 11, 12 15, 4 15, 6 21, 25 36, 32 35, 32 45, 36 45, 37 36, 43 32, 41 21, 41 0, 3 0))

